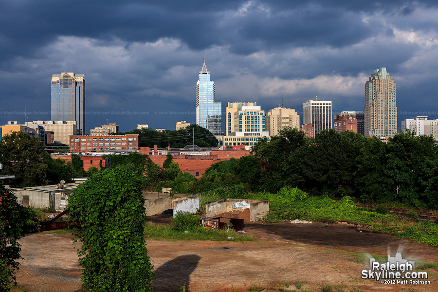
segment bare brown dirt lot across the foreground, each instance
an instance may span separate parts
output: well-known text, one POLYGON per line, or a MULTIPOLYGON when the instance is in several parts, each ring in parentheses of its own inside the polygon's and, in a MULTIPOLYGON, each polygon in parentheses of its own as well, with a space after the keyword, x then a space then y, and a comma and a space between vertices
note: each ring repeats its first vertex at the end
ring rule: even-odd
MULTIPOLYGON (((157 219, 165 222, 165 219, 157 219)), ((430 285, 383 285, 362 280, 366 259, 349 252, 394 255, 438 262, 438 248, 345 225, 312 223, 246 224, 256 242, 147 241, 157 273, 154 291, 190 292, 248 289, 251 285, 303 282, 320 291, 323 281, 362 291, 438 291, 438 268, 428 269, 430 285)), ((29 291, 80 289, 80 269, 72 235, 34 234, 20 240, 24 260, 17 275, 29 291)), ((291 286, 292 289, 293 285, 291 286)), ((349 290, 346 290, 349 291, 349 290)))

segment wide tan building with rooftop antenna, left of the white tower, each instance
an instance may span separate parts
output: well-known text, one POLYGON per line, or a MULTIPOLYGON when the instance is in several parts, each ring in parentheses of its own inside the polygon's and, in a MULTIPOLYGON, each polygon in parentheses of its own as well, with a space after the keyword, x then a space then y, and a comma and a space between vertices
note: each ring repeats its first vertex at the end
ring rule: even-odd
POLYGON ((300 116, 295 110, 274 108, 266 114, 266 130, 269 136, 278 135, 283 128, 300 128, 300 116))

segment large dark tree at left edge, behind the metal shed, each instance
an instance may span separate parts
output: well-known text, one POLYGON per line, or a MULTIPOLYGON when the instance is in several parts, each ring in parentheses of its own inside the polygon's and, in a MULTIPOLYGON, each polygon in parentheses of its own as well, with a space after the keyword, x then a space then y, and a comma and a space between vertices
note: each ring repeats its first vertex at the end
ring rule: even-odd
POLYGON ((47 165, 43 162, 45 146, 29 133, 13 132, 0 141, 2 173, 15 175, 11 184, 19 187, 47 184, 47 165))

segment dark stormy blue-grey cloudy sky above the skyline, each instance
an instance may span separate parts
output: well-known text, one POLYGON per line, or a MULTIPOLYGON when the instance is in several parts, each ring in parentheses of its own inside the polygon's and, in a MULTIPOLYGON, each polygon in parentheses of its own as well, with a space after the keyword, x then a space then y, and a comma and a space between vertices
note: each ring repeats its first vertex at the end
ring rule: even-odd
POLYGON ((107 119, 121 131, 195 123, 204 56, 222 111, 228 101, 268 111, 282 94, 300 114, 315 96, 333 113, 363 111, 382 66, 399 127, 438 118, 437 1, 156 2, 3 0, 0 124, 23 123, 25 108, 49 120, 50 80, 64 71, 85 74, 87 133, 107 119))

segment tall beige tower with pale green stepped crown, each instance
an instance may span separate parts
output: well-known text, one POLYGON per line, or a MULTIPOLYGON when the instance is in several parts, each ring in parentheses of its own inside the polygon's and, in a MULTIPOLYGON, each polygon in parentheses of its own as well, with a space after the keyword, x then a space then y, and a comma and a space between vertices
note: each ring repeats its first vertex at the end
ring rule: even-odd
POLYGON ((386 68, 374 70, 365 83, 365 136, 387 141, 397 133, 396 84, 386 68))

